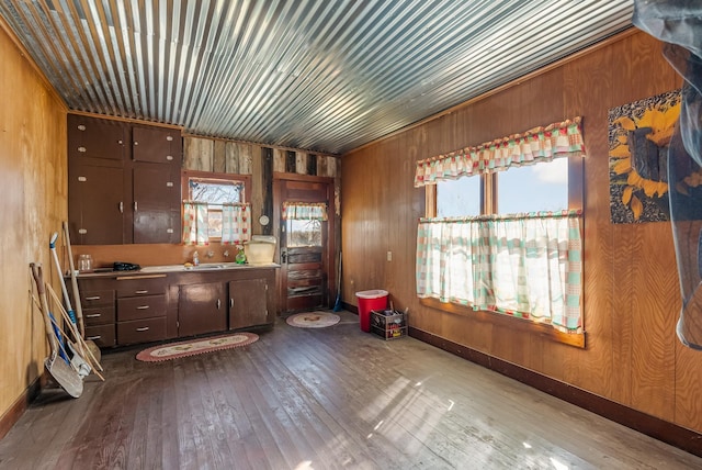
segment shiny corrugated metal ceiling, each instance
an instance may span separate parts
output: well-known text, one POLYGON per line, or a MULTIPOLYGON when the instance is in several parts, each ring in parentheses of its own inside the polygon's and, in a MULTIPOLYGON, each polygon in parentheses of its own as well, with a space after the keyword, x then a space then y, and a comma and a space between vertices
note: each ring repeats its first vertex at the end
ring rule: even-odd
POLYGON ((0 0, 71 110, 343 154, 631 25, 633 0, 0 0))

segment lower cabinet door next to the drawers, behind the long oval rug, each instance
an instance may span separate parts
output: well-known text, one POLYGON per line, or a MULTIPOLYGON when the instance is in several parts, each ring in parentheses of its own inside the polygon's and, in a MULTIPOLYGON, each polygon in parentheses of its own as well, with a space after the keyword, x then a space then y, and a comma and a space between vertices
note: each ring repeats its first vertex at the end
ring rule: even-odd
POLYGON ((180 287, 178 336, 193 336, 227 329, 225 284, 210 282, 180 287))

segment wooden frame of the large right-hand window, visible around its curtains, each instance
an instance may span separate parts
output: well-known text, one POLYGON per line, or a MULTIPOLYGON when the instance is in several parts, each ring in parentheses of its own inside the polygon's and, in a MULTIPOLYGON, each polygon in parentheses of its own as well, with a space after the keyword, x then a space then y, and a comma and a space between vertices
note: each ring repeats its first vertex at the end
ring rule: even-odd
MULTIPOLYGON (((585 209, 585 161, 584 156, 562 157, 568 158, 568 210, 585 209)), ((506 171, 509 171, 507 169, 506 171)), ((489 215, 497 213, 497 172, 483 174, 480 178, 480 214, 489 215)), ((426 217, 437 216, 437 184, 424 184, 424 208, 426 217)), ((585 214, 581 224, 585 222, 585 214)), ((585 237, 582 238, 582 249, 585 253, 585 237)), ((585 262, 584 262, 585 265, 585 262)), ((584 270, 585 272, 585 270, 584 270)), ((585 292, 585 289, 584 289, 585 292)), ((584 298, 585 299, 585 298, 584 298)), ((505 315, 491 311, 474 311, 471 306, 461 305, 453 302, 441 302, 438 299, 419 299, 421 305, 430 309, 468 316, 484 323, 503 326, 513 331, 536 334, 550 340, 563 343, 578 348, 585 348, 585 318, 582 322, 582 333, 564 333, 554 328, 550 324, 536 323, 518 316, 505 315)), ((585 302, 581 305, 585 313, 585 302)))

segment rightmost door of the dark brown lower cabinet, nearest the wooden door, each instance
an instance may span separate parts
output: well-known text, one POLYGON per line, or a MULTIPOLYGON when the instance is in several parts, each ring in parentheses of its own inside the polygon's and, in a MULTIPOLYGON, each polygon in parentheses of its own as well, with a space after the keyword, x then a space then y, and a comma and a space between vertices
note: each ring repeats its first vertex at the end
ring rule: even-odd
POLYGON ((229 329, 271 323, 265 279, 229 281, 229 329))

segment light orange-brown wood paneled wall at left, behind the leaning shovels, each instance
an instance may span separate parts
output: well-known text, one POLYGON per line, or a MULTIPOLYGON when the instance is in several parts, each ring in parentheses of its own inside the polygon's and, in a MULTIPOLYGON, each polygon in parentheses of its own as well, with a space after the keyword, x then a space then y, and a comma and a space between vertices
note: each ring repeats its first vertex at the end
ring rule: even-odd
POLYGON ((44 323, 30 262, 58 288, 48 242, 67 215, 66 107, 0 19, 0 437, 44 371, 44 323))

